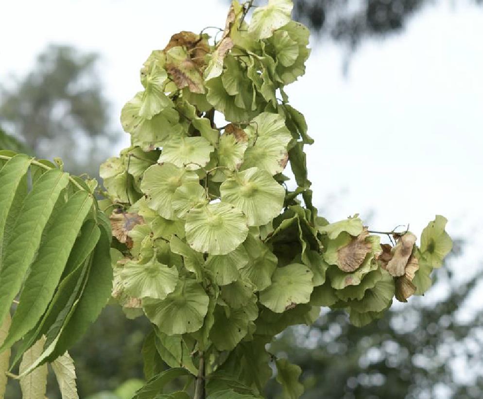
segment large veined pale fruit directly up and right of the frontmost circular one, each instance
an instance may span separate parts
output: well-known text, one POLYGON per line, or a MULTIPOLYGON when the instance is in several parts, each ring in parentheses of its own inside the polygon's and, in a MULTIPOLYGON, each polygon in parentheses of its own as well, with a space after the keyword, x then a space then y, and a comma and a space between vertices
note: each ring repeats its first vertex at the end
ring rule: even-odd
POLYGON ((285 189, 270 173, 251 167, 226 179, 220 186, 222 202, 240 208, 249 226, 261 226, 272 221, 283 208, 285 189))

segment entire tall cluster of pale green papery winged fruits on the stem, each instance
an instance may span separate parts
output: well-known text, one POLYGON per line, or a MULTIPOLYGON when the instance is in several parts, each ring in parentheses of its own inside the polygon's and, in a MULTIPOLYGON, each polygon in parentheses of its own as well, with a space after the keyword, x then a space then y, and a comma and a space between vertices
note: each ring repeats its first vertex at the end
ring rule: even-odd
MULTIPOLYGON (((290 0, 269 0, 247 21, 250 4, 233 1, 217 42, 184 31, 153 51, 141 69, 145 90, 121 113, 132 147, 101 166, 117 207, 111 220, 136 220, 121 231, 116 222, 114 296, 128 316, 142 308, 155 324, 146 348, 207 374, 207 398, 259 397, 277 333, 310 325, 320 306, 362 326, 394 297, 422 294, 450 249, 439 216, 419 250, 410 234, 381 246, 358 215, 317 215, 304 152, 313 140, 284 91, 305 73, 309 31, 291 19, 290 0), (289 163, 294 191, 284 186, 289 163)), ((170 375, 153 377, 145 358, 152 380, 139 398, 170 375)), ((300 368, 276 366, 282 397, 298 398, 300 368)))

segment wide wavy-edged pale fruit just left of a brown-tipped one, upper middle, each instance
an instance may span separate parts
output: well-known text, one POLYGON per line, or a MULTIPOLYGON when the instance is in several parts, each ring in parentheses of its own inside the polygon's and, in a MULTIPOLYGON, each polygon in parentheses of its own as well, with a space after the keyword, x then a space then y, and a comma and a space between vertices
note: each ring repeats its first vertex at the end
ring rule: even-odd
POLYGON ((163 147, 158 162, 170 162, 187 170, 206 166, 214 147, 204 137, 173 137, 163 147))

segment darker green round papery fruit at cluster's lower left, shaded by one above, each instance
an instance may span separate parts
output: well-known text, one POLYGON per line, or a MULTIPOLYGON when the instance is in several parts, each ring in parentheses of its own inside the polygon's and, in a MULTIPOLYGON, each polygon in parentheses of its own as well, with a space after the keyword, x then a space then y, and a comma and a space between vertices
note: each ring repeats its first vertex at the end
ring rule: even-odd
POLYGON ((208 296, 194 280, 180 280, 165 299, 146 298, 146 316, 168 335, 194 332, 201 328, 208 310, 208 296))

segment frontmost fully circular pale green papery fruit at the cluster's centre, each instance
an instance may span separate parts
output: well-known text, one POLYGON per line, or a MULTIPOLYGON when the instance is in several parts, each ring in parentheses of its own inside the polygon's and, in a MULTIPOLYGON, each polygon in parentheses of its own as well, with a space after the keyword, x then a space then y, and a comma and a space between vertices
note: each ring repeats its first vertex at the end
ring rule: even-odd
POLYGON ((236 249, 248 235, 245 215, 223 202, 190 210, 186 217, 186 240, 192 249, 224 255, 236 249))

